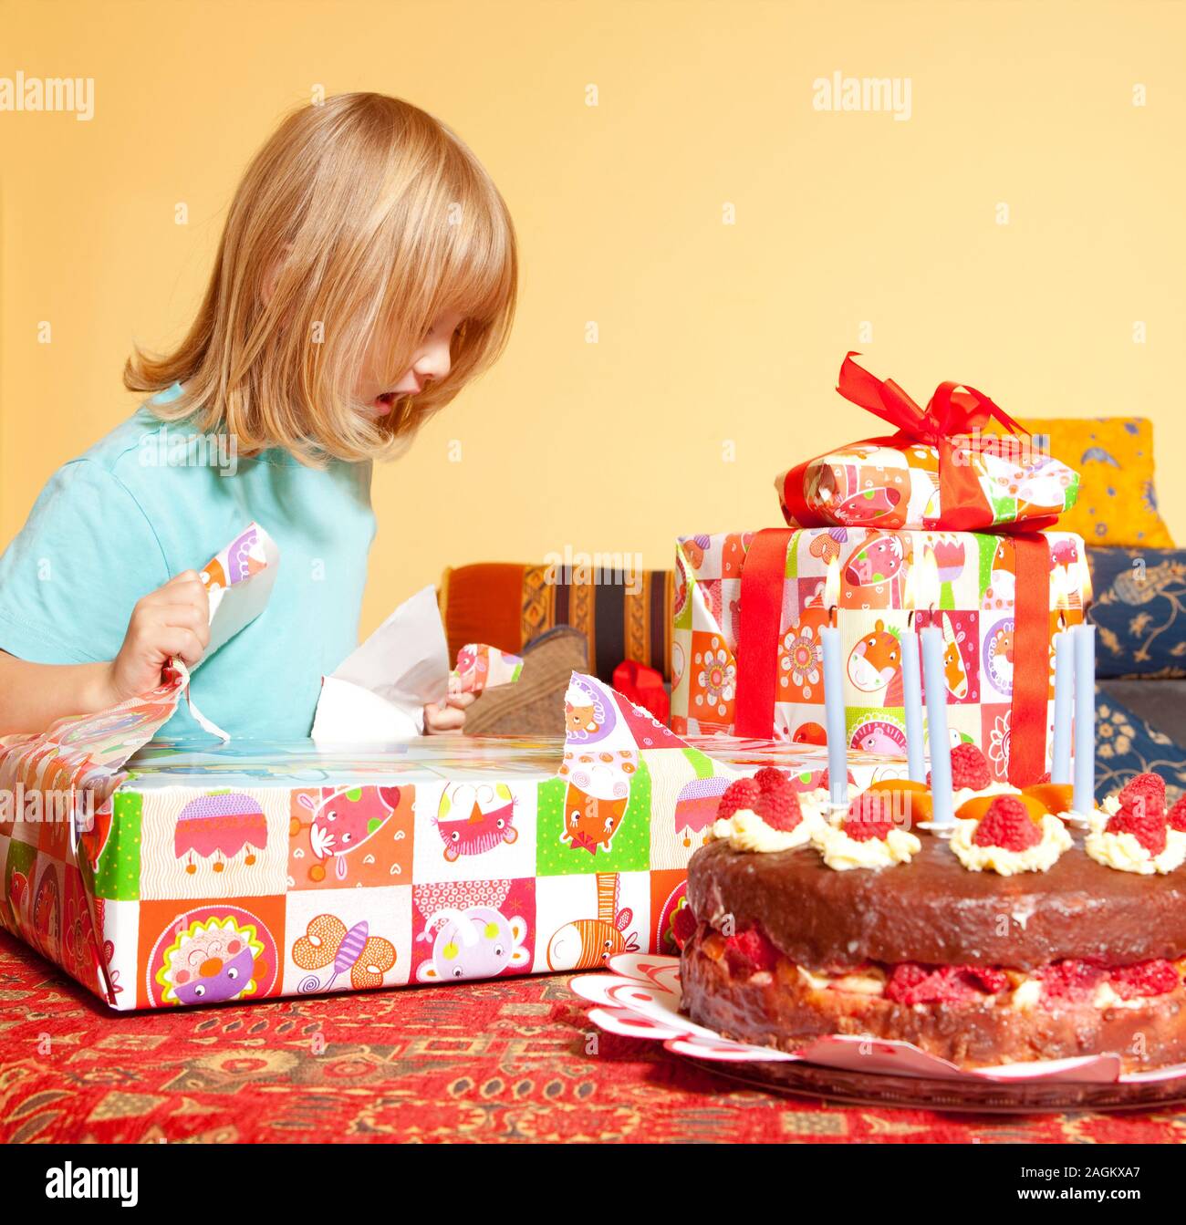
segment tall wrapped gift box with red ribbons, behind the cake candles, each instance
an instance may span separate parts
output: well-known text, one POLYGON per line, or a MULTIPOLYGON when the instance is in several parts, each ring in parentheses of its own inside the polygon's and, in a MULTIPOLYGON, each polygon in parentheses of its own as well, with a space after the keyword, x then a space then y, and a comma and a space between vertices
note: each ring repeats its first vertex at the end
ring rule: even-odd
MULTIPOLYGON (((907 578, 932 549, 940 589, 913 627, 947 642, 947 722, 979 745, 996 775, 1049 768, 1051 639, 1082 620, 1090 597, 1083 541, 1071 533, 991 535, 800 528, 684 537, 676 545, 671 726, 680 735, 773 735, 825 741, 820 630, 825 586, 839 566, 836 620, 844 657, 849 745, 902 755, 899 638, 907 578), (749 615, 747 615, 749 612, 749 615)), ((1033 780, 1029 778, 1028 780, 1033 780)))

